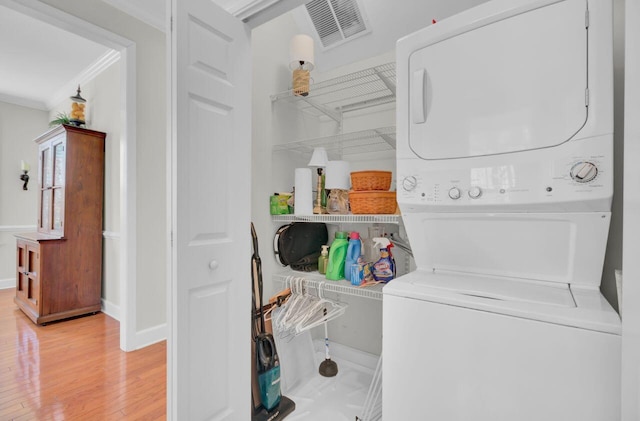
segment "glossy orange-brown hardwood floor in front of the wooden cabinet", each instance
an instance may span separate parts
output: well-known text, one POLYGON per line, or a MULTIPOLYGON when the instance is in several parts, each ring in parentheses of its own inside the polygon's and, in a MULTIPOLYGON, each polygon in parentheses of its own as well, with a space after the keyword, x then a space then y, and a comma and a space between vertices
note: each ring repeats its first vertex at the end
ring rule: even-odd
POLYGON ((166 342, 119 348, 103 313, 34 325, 0 290, 0 420, 165 419, 166 342))

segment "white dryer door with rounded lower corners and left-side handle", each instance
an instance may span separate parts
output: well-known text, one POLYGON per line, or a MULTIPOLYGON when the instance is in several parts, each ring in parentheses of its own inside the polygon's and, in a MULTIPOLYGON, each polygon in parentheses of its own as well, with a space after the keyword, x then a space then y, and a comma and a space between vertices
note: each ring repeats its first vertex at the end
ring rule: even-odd
POLYGON ((403 118, 420 158, 551 147, 585 124, 586 1, 510 12, 457 31, 437 23, 429 44, 411 55, 403 118))

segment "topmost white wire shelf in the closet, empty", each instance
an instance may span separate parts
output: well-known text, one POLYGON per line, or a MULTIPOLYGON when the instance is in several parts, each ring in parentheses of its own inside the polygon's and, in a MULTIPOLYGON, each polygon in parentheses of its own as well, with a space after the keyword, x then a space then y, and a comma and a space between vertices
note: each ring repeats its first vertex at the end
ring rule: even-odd
POLYGON ((339 120, 344 112, 355 111, 396 100, 396 65, 386 63, 344 76, 313 83, 303 97, 287 90, 271 96, 271 101, 295 103, 312 115, 328 115, 339 120))

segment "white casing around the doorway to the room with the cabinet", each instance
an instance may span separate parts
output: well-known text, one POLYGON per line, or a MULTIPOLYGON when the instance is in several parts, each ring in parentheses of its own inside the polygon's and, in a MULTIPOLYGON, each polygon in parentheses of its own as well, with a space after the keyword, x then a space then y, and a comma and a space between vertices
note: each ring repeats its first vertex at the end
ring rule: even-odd
POLYGON ((136 44, 37 0, 0 0, 0 5, 120 53, 120 349, 137 349, 136 341, 136 44), (126 183, 122 183, 126 180, 126 183))

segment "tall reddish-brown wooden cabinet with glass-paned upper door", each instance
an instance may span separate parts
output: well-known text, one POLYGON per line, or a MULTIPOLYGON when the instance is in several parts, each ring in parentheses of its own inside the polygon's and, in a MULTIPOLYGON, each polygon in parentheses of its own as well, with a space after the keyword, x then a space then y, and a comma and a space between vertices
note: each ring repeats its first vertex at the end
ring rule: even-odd
POLYGON ((15 303, 36 324, 100 311, 106 134, 61 125, 38 144, 38 231, 17 234, 15 303))

